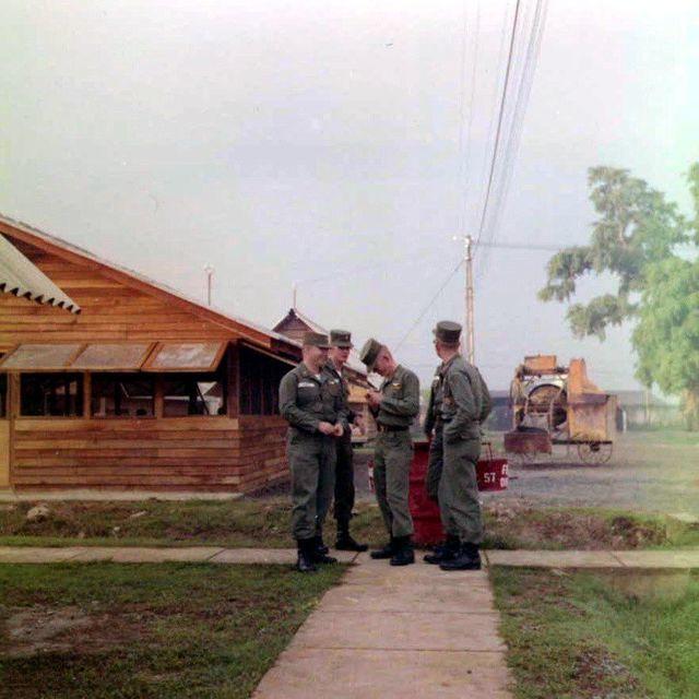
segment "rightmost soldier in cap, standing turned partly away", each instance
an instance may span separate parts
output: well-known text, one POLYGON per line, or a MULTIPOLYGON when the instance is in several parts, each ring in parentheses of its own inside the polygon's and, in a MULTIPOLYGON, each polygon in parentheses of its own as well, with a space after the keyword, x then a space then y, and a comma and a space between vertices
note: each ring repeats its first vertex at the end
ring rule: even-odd
POLYGON ((459 352, 461 325, 443 320, 437 323, 434 334, 435 350, 441 358, 438 369, 441 419, 437 415, 435 424, 435 430, 439 424, 442 433, 441 475, 438 475, 438 453, 430 459, 430 466, 431 479, 438 483, 439 511, 447 541, 433 555, 425 556, 425 560, 438 564, 442 570, 478 570, 483 514, 476 464, 481 455, 481 424, 491 408, 490 394, 478 369, 459 352))

